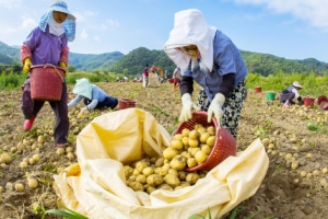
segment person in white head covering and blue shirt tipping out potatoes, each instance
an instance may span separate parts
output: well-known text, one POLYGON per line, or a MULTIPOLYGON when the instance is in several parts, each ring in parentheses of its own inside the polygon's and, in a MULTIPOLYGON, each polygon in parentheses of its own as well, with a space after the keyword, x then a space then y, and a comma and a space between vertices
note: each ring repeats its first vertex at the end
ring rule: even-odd
POLYGON ((174 28, 164 45, 166 55, 181 69, 183 110, 179 122, 191 118, 199 110, 192 102, 194 80, 206 92, 208 122, 214 115, 218 124, 236 139, 238 119, 247 96, 247 69, 238 48, 221 31, 209 26, 197 9, 175 14, 174 28))

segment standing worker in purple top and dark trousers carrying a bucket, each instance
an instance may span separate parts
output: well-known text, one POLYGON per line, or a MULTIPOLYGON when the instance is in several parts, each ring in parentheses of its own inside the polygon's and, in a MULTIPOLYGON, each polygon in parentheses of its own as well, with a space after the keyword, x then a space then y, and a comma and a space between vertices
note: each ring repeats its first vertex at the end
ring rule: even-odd
MULTIPOLYGON (((44 101, 34 101, 31 97, 31 66, 49 64, 66 69, 69 57, 68 42, 72 42, 74 37, 75 16, 68 11, 66 2, 56 1, 42 16, 38 26, 24 41, 21 48, 21 61, 23 71, 28 76, 24 82, 22 112, 25 117, 24 129, 26 131, 32 128, 45 103, 44 101)), ((69 132, 67 99, 67 85, 63 81, 60 101, 49 102, 55 113, 54 137, 57 147, 63 147, 67 143, 69 132)))

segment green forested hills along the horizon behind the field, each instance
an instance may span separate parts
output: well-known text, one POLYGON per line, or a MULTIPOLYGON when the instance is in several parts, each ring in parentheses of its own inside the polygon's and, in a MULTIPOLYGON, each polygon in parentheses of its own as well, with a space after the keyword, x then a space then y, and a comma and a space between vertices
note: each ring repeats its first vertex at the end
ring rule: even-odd
MULTIPOLYGON (((285 59, 270 54, 241 50, 249 72, 261 76, 285 73, 308 73, 314 71, 317 76, 328 72, 328 64, 315 58, 304 60, 285 59)), ((20 62, 20 48, 8 46, 0 42, 0 65, 20 62)), ((160 66, 165 70, 173 71, 175 65, 168 59, 164 50, 150 50, 145 47, 133 49, 127 55, 120 51, 105 54, 69 54, 69 65, 77 70, 93 71, 107 70, 109 72, 140 76, 145 64, 160 66)))

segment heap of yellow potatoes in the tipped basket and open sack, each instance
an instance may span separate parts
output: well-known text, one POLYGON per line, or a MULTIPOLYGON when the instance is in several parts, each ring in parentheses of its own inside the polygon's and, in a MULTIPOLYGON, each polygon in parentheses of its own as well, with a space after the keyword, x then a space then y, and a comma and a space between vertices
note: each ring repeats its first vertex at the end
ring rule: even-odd
POLYGON ((133 191, 151 194, 155 189, 175 191, 194 185, 207 172, 186 172, 206 161, 215 142, 214 126, 195 125, 176 134, 163 158, 145 158, 125 165, 126 182, 133 191))

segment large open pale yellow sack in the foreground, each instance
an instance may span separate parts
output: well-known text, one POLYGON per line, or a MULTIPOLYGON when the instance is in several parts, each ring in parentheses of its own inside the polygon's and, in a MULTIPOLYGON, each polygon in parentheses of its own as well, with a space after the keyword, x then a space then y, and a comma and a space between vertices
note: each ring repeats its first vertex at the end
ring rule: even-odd
POLYGON ((159 158, 169 134, 148 112, 127 108, 95 118, 78 136, 78 164, 55 175, 54 188, 68 208, 94 219, 220 218, 256 193, 269 164, 259 139, 230 157, 194 186, 151 195, 125 184, 122 163, 159 158))

